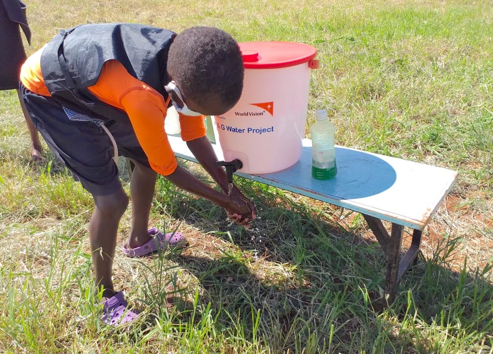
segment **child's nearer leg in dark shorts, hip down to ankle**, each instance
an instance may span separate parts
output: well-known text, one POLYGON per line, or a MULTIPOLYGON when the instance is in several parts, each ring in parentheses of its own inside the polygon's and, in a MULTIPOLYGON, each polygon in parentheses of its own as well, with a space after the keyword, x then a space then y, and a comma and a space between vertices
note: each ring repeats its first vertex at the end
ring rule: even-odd
POLYGON ((100 127, 90 122, 70 121, 63 107, 51 97, 37 95, 23 85, 20 91, 29 116, 48 147, 93 195, 95 207, 89 238, 95 283, 107 289, 105 297, 111 297, 117 229, 128 206, 128 196, 112 159, 112 143, 100 127))

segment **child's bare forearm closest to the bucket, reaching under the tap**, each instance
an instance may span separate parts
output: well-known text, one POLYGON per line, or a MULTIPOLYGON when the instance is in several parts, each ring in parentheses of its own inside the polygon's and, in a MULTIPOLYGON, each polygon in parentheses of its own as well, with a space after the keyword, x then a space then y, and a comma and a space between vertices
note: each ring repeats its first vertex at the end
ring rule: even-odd
POLYGON ((228 177, 222 167, 216 166, 216 153, 207 137, 195 139, 186 143, 191 153, 204 169, 211 175, 221 189, 228 192, 228 177))

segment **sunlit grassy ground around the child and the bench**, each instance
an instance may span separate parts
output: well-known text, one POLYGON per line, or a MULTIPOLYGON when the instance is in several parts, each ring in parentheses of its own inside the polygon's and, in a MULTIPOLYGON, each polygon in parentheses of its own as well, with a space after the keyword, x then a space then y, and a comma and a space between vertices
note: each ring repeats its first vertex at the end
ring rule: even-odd
MULTIPOLYGON (((361 216, 238 178, 266 233, 255 244, 223 210, 160 179, 151 224, 179 229, 190 247, 138 261, 117 254, 117 288, 145 316, 112 331, 90 294, 92 199, 56 161, 30 164, 16 92, 2 91, 0 352, 491 354, 492 5, 30 1, 29 53, 85 22, 205 24, 239 41, 312 44, 322 65, 309 123, 326 107, 338 144, 454 169, 459 179, 388 309, 379 305, 384 258, 361 216)), ((130 212, 119 244, 129 228, 130 212)))

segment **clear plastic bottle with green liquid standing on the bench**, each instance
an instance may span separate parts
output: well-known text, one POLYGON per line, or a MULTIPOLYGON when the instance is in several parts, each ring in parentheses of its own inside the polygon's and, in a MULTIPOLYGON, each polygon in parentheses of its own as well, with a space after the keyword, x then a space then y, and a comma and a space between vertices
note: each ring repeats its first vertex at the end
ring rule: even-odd
POLYGON ((312 176, 330 179, 337 174, 336 150, 334 147, 334 125, 325 109, 315 112, 315 123, 310 127, 312 136, 312 176))

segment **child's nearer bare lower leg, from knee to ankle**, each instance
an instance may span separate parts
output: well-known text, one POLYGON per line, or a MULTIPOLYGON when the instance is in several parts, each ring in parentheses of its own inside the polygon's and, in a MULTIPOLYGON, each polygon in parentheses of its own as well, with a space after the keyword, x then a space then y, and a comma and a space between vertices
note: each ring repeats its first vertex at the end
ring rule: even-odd
POLYGON ((95 207, 89 222, 89 238, 95 285, 97 289, 103 287, 103 297, 112 297, 115 295, 112 268, 118 224, 127 209, 128 196, 120 188, 113 194, 93 197, 95 207))

